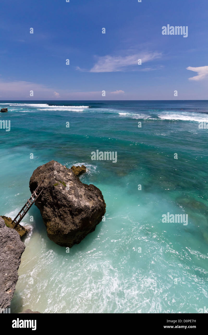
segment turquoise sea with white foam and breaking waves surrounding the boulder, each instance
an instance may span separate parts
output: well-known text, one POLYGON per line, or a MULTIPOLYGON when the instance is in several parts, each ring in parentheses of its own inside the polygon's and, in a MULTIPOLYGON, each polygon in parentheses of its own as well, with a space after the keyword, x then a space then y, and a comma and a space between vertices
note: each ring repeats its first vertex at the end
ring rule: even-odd
POLYGON ((30 196, 33 171, 52 159, 86 165, 80 180, 97 186, 107 204, 106 221, 69 253, 48 239, 39 210, 30 209, 12 313, 208 307, 208 129, 198 127, 208 122, 208 101, 2 101, 3 107, 9 112, 0 120, 10 120, 11 130, 0 129, 0 215, 14 218, 30 196), (97 149, 117 151, 117 163, 91 160, 97 149), (168 212, 188 214, 188 225, 163 223, 168 212))

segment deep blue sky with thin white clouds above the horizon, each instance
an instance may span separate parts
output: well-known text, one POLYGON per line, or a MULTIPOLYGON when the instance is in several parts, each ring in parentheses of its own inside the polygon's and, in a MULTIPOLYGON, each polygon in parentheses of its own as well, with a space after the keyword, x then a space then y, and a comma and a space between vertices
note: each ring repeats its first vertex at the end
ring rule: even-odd
POLYGON ((208 99, 207 1, 1 0, 0 11, 1 100, 208 99), (162 35, 168 24, 188 37, 162 35))

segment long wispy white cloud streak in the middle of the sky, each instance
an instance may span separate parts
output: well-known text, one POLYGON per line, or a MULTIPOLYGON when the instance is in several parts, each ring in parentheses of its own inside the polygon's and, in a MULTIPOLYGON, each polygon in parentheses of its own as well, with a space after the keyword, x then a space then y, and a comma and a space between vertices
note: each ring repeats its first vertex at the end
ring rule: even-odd
MULTIPOLYGON (((142 60, 142 64, 153 61, 162 56, 158 52, 149 52, 134 54, 129 56, 96 56, 96 63, 88 72, 118 72, 127 71, 131 66, 138 66, 138 59, 142 60)), ((79 71, 84 71, 79 67, 76 68, 79 71)))

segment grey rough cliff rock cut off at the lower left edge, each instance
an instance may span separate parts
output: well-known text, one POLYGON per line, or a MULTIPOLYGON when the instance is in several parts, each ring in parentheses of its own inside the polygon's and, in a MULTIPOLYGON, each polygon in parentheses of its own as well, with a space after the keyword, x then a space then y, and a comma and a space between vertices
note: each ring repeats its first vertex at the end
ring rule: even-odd
POLYGON ((18 279, 17 271, 25 250, 18 232, 0 217, 0 308, 8 308, 18 279))

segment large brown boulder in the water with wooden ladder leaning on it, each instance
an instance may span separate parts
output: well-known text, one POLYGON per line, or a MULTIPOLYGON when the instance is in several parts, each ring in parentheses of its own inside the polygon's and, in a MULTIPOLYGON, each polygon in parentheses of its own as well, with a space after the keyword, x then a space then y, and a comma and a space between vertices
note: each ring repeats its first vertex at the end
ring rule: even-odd
POLYGON ((59 246, 78 244, 102 220, 106 204, 94 185, 80 182, 71 169, 51 160, 39 166, 30 178, 30 191, 41 183, 39 208, 51 241, 59 246))

